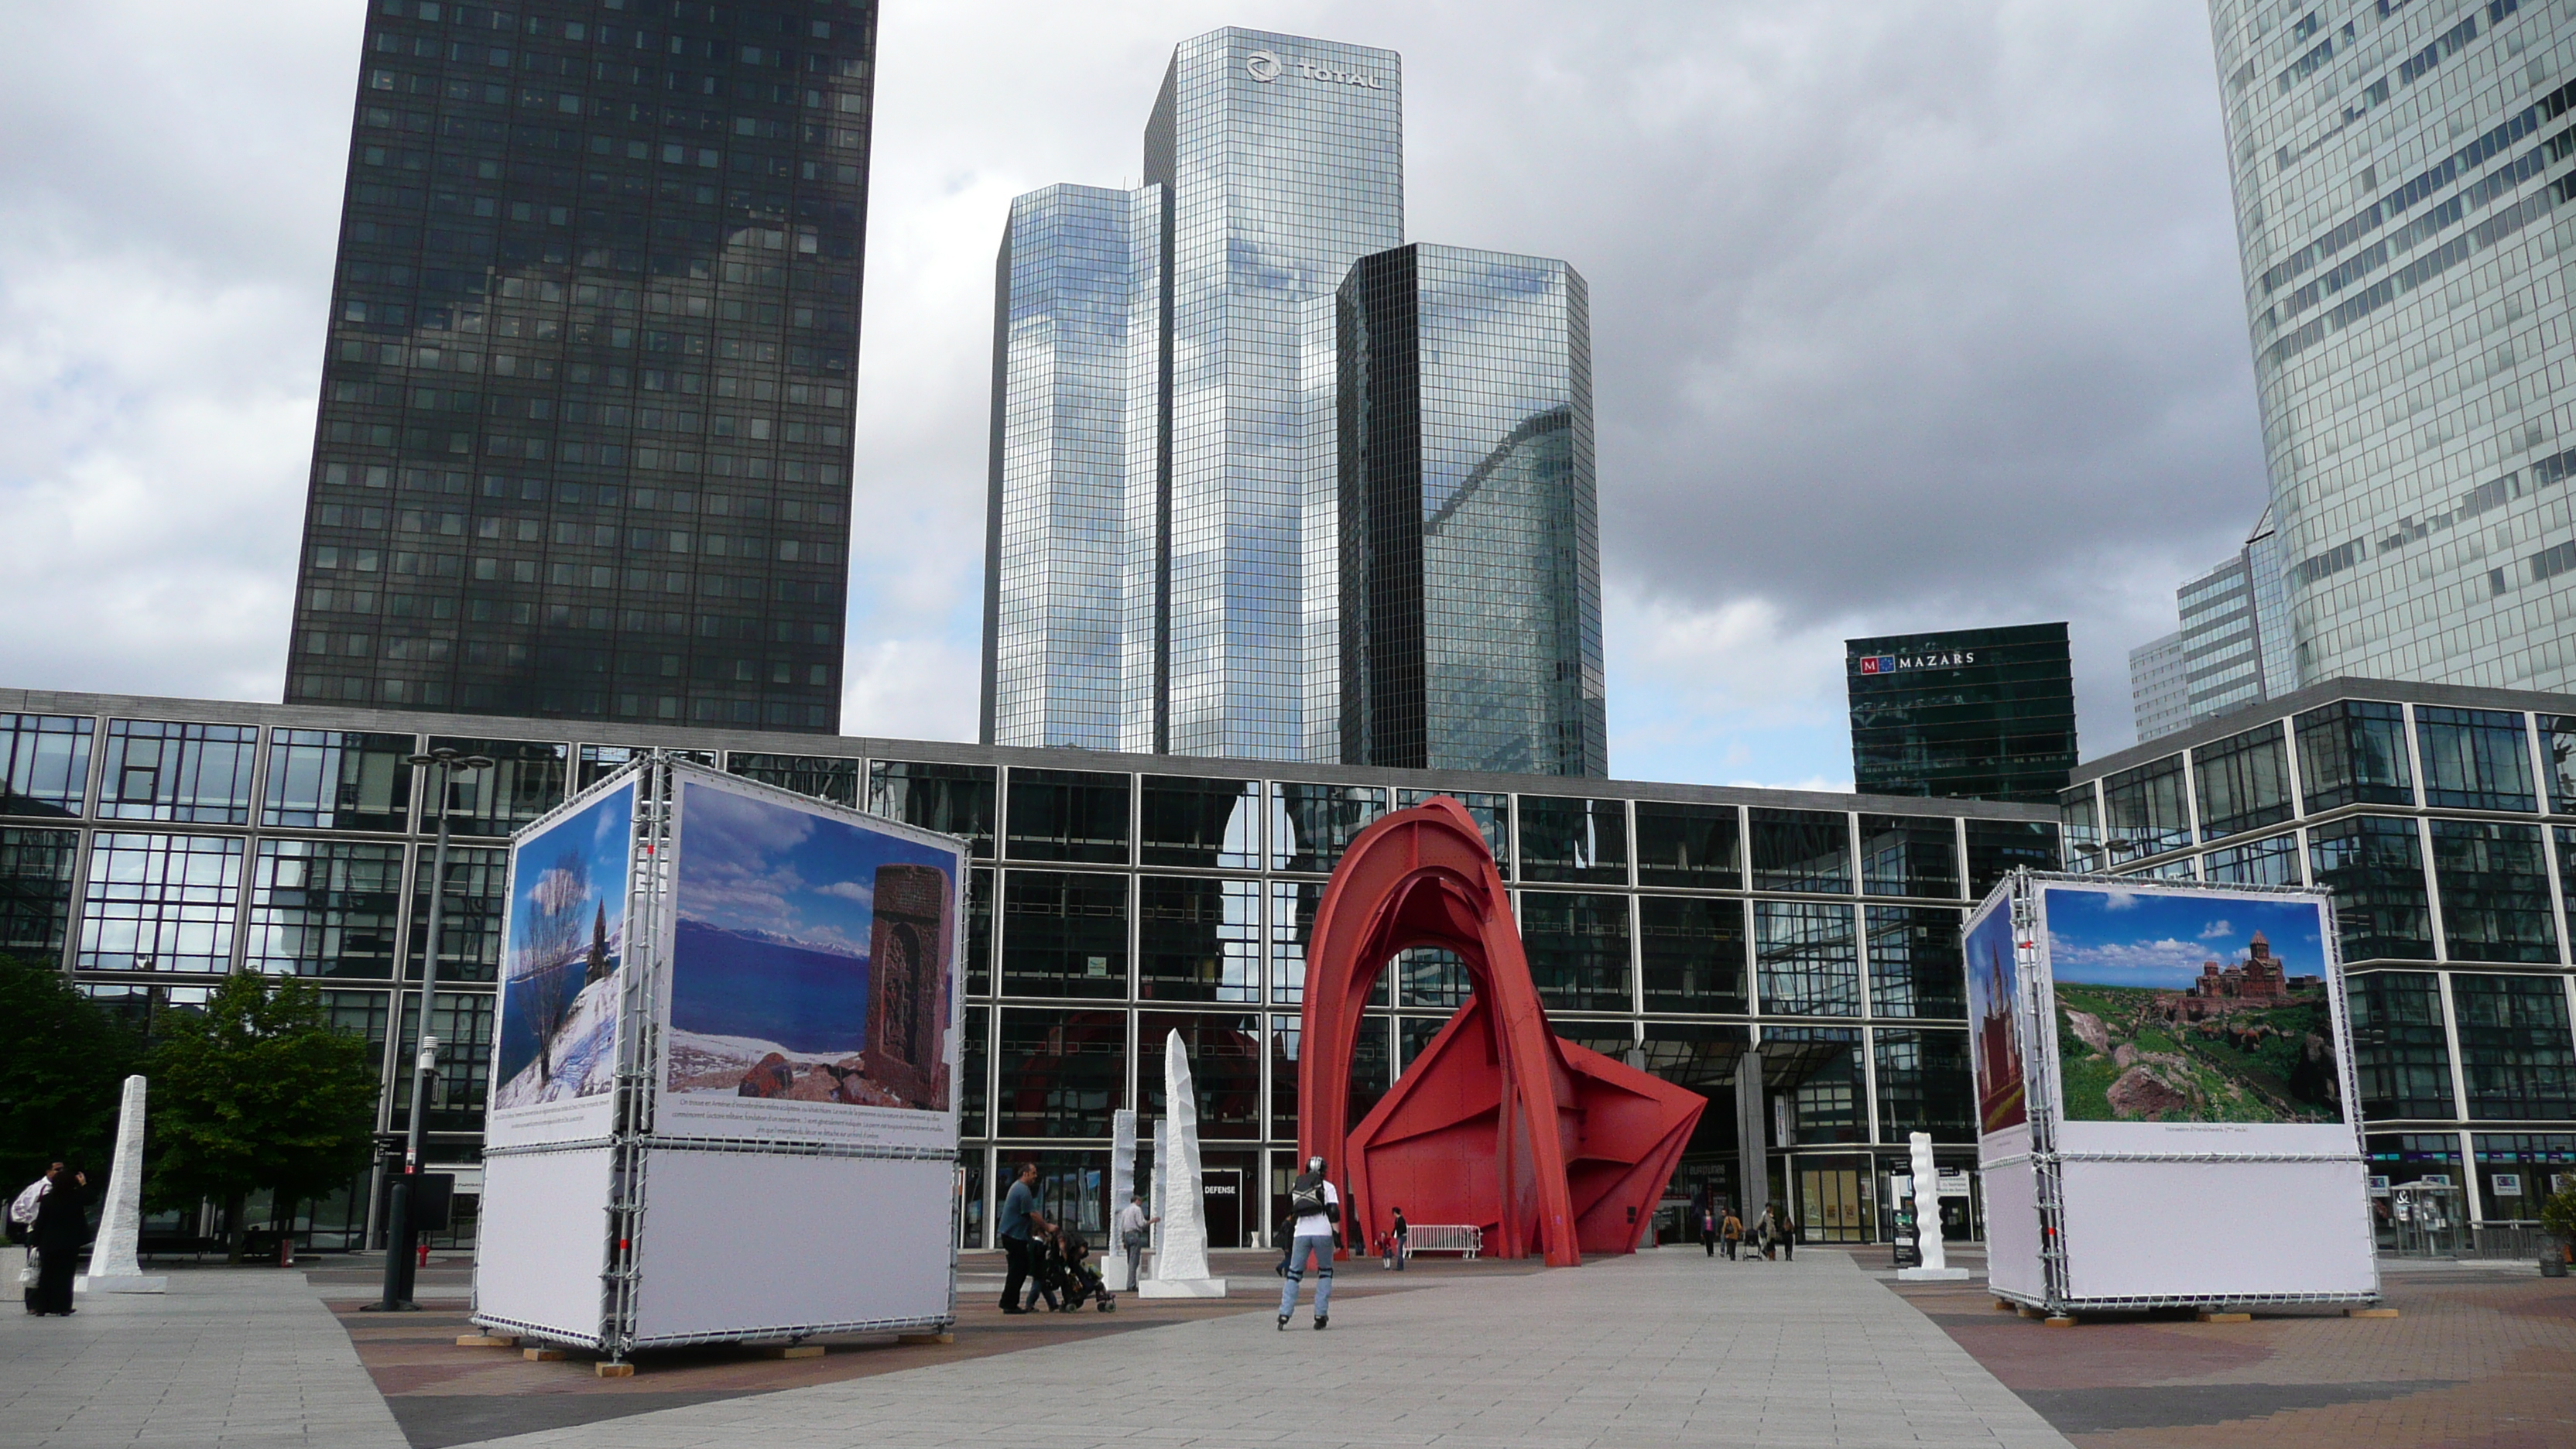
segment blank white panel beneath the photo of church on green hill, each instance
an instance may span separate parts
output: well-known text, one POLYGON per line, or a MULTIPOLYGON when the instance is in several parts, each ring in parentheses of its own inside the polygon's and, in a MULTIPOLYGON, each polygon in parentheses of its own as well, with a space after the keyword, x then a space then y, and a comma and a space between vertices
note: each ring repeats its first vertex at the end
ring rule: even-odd
POLYGON ((2354 1160, 2066 1163, 2061 1194, 2066 1297, 2076 1302, 2380 1289, 2354 1160))

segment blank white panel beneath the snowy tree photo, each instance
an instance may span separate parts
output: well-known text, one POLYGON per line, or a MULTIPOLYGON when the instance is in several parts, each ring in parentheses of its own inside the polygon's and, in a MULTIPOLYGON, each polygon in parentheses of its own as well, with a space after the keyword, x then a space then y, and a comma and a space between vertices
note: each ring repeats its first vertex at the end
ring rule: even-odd
POLYGON ((474 1312, 598 1343, 608 1147, 484 1158, 474 1312))

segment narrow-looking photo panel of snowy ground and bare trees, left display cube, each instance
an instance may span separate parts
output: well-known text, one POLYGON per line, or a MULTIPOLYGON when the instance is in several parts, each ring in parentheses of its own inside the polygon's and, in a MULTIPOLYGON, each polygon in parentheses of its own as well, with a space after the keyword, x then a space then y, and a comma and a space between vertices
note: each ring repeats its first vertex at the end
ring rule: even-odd
POLYGON ((634 781, 510 848, 492 1029, 495 1145, 605 1132, 618 1067, 634 781))

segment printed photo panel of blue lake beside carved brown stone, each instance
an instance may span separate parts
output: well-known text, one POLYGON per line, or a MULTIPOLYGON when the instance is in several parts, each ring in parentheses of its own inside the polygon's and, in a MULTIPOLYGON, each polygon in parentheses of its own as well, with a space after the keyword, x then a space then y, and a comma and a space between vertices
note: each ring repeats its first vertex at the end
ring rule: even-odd
POLYGON ((956 900, 951 846, 680 776, 667 1129, 876 1140, 889 1111, 945 1122, 956 900))

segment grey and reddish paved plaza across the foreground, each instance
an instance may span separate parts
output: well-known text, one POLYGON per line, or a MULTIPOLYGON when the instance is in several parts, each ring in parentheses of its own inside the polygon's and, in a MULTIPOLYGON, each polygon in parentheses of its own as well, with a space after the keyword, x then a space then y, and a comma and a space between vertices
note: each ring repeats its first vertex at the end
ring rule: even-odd
MULTIPOLYGON (((1973 1263, 1973 1253, 1968 1256, 1973 1263)), ((2391 1266, 2398 1320, 2182 1315, 2043 1328, 1978 1284, 1893 1284, 1886 1250, 1795 1263, 1690 1248, 1595 1261, 1347 1263, 1332 1330, 1278 1333, 1265 1256, 1236 1297, 1002 1318, 989 1256, 956 1343, 845 1341, 580 1359, 459 1348, 464 1271, 420 1315, 371 1274, 180 1269, 165 1297, 0 1318, 0 1444, 693 1446, 2063 1446, 2576 1444, 2576 1287, 2530 1266, 2391 1266)))

